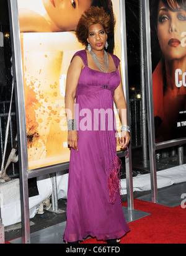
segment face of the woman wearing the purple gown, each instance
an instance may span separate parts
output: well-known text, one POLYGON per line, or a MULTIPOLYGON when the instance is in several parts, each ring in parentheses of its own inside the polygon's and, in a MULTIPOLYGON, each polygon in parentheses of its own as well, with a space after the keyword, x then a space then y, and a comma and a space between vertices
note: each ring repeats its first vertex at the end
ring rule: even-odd
POLYGON ((89 27, 89 37, 87 38, 87 42, 90 43, 92 50, 103 50, 106 41, 107 34, 101 24, 93 24, 89 27))

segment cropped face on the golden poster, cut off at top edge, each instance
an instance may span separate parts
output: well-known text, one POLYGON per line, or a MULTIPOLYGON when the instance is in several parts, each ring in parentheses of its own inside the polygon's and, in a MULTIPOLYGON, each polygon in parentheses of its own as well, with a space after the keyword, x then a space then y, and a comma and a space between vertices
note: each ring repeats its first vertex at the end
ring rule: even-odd
POLYGON ((93 0, 43 0, 45 9, 60 31, 76 30, 78 21, 93 0))

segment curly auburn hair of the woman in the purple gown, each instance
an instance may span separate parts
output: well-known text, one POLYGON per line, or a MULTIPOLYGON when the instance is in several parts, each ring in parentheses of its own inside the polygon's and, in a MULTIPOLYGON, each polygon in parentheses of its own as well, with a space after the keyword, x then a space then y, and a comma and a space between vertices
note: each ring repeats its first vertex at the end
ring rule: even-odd
POLYGON ((115 27, 115 19, 112 19, 107 12, 104 11, 103 7, 95 7, 91 6, 87 9, 84 14, 82 14, 77 28, 76 28, 76 37, 82 45, 88 45, 87 38, 89 37, 89 27, 94 24, 101 24, 105 32, 109 37, 113 37, 114 27, 115 27))

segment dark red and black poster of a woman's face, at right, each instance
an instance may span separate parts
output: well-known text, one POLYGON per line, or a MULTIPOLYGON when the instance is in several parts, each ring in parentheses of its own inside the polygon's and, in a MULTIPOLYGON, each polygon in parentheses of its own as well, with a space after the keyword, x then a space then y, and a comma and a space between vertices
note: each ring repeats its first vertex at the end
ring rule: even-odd
POLYGON ((186 137, 186 0, 150 0, 156 142, 186 137))

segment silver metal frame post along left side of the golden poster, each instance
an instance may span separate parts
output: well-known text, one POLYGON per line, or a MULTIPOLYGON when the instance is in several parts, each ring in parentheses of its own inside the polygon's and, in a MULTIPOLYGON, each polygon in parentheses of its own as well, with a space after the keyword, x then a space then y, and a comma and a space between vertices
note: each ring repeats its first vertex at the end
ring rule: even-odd
POLYGON ((27 132, 25 122, 24 81, 22 53, 20 47, 20 29, 17 0, 9 0, 9 18, 11 24, 12 66, 15 83, 15 106, 17 118, 17 141, 19 144, 20 202, 22 213, 22 242, 30 244, 29 185, 27 132))

